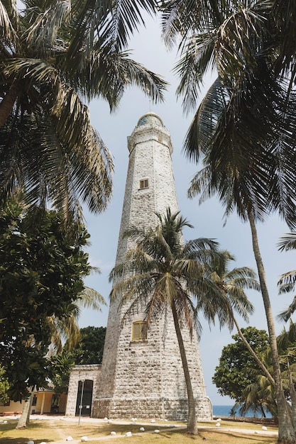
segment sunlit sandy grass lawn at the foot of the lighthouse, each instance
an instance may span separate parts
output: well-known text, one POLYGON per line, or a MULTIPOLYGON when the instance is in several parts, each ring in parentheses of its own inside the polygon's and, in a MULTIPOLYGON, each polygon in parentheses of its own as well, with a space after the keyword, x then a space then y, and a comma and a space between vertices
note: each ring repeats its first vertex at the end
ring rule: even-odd
MULTIPOLYGON (((66 438, 72 436, 72 444, 80 443, 82 436, 87 436, 89 444, 99 444, 100 442, 114 442, 122 444, 131 442, 133 444, 189 444, 204 443, 217 444, 267 444, 277 443, 276 437, 262 435, 247 435, 239 432, 239 429, 261 431, 261 426, 252 423, 238 423, 222 421, 220 428, 213 428, 214 423, 200 423, 199 435, 187 435, 185 428, 180 428, 181 423, 174 423, 174 428, 169 428, 168 423, 157 423, 144 425, 145 432, 140 432, 141 423, 115 424, 104 422, 89 422, 83 420, 78 426, 77 421, 62 421, 59 418, 49 420, 31 420, 28 427, 23 430, 16 430, 16 420, 9 419, 7 423, 0 422, 0 442, 1 444, 27 444, 33 440, 34 444, 45 443, 66 443, 66 438), (204 428, 209 426, 209 428, 204 428), (235 430, 226 431, 226 428, 235 430), (155 433, 155 429, 159 433, 155 433), (116 432, 111 436, 111 431, 116 432), (131 437, 126 437, 126 432, 131 432, 131 437), (135 435, 135 433, 137 435, 135 435)), ((184 423, 182 423, 184 426, 184 423)), ((276 428, 268 426, 268 431, 276 431, 276 428)), ((69 442, 71 444, 71 441, 69 442)))

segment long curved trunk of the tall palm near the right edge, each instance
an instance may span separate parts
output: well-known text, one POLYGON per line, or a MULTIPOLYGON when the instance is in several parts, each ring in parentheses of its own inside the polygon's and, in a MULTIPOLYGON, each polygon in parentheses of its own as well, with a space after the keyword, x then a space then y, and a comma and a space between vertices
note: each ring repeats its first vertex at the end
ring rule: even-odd
POLYGON ((289 407, 287 406, 287 401, 285 399, 285 393, 283 390, 283 383, 280 374, 280 362, 278 359, 278 344, 275 335, 275 323, 273 319, 273 311, 271 309, 270 297, 268 294, 268 287, 265 277, 265 270, 258 244, 256 224, 253 218, 253 214, 251 212, 248 213, 248 220, 251 226, 253 252, 256 259, 258 276, 261 284, 261 293, 265 308, 266 320, 268 324, 270 350, 273 359, 273 373, 275 379, 275 401, 278 406, 278 443, 295 444, 295 430, 292 424, 290 410, 289 407))

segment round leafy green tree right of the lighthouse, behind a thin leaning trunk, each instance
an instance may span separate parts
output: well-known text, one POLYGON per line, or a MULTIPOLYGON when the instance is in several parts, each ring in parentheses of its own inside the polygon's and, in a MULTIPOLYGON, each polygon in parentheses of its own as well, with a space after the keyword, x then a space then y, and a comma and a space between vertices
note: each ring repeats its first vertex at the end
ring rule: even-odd
MULTIPOLYGON (((268 334, 265 330, 255 327, 242 328, 241 331, 248 343, 257 354, 264 353, 268 348, 268 334)), ((253 369, 261 369, 246 349, 239 334, 232 335, 234 343, 224 346, 219 358, 219 365, 215 368, 212 381, 216 384, 219 394, 229 396, 237 403, 244 399, 243 390, 256 381, 253 369)))

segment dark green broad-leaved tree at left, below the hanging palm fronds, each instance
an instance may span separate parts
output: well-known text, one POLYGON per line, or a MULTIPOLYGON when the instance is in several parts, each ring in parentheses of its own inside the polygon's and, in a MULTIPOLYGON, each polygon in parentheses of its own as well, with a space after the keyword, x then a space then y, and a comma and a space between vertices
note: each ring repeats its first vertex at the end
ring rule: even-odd
POLYGON ((89 239, 83 226, 72 223, 65 231, 55 211, 38 225, 31 221, 31 211, 16 201, 0 209, 0 356, 13 400, 26 398, 28 387, 46 387, 52 320, 72 314, 92 270, 82 250, 89 239))

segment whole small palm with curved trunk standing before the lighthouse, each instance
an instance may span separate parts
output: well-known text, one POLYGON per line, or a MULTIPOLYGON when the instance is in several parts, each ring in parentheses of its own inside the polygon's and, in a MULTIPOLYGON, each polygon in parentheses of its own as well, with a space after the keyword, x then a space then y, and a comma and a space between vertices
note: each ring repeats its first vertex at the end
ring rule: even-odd
MULTIPOLYGON (((197 301, 201 298, 208 306, 212 301, 214 309, 219 307, 219 321, 229 321, 229 300, 221 298, 221 290, 207 273, 211 263, 223 261, 224 255, 219 253, 218 244, 211 239, 199 238, 183 243, 182 228, 192 226, 179 212, 172 214, 167 209, 165 216, 156 214, 159 219, 156 228, 132 227, 126 231, 125 236, 131 237, 136 247, 129 250, 126 260, 111 271, 110 280, 113 279, 115 284, 110 298, 120 297, 121 304, 129 304, 126 313, 145 304, 147 328, 154 316, 159 316, 166 307, 171 309, 187 387, 187 432, 195 434, 194 393, 180 324, 185 323, 191 333, 199 326, 198 311, 192 298, 197 301), (220 304, 217 303, 219 298, 220 304)), ((244 315, 250 308, 245 302, 245 306, 242 301, 241 305, 237 304, 244 315)))

